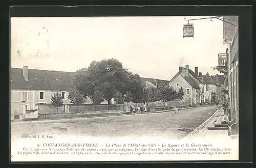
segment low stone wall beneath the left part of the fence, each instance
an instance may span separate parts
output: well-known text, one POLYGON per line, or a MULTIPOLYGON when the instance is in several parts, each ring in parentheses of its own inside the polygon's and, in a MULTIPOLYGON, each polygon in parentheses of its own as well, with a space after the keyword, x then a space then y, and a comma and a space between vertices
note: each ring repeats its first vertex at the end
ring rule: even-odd
POLYGON ((63 118, 78 118, 78 117, 97 117, 97 116, 111 116, 124 114, 123 110, 115 111, 90 111, 85 113, 62 113, 62 114, 38 114, 38 119, 63 119, 63 118))

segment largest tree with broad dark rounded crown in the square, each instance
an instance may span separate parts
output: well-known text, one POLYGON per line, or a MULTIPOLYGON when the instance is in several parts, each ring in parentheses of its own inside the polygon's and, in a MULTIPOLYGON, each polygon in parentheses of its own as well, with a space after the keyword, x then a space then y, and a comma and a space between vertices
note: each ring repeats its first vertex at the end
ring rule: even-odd
MULTIPOLYGON (((97 88, 97 92, 102 93, 102 98, 108 101, 109 104, 111 104, 111 99, 114 97, 116 91, 122 94, 130 91, 135 100, 138 101, 140 99, 137 96, 141 89, 139 75, 134 75, 127 69, 124 69, 122 64, 115 59, 99 62, 93 61, 88 68, 76 71, 73 84, 85 96, 97 97, 95 95, 95 88, 97 88)), ((100 99, 101 96, 99 97, 100 99)))

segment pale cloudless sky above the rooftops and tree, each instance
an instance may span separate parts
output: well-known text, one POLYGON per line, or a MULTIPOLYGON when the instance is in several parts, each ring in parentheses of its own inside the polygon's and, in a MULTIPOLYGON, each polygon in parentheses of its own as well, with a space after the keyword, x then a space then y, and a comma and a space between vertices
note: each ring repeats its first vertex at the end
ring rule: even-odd
MULTIPOLYGON (((187 17, 189 19, 209 16, 187 17)), ((179 66, 220 74, 223 22, 193 20, 194 38, 183 38, 184 17, 11 18, 10 66, 76 71, 92 61, 117 59, 141 77, 170 80, 179 66)))

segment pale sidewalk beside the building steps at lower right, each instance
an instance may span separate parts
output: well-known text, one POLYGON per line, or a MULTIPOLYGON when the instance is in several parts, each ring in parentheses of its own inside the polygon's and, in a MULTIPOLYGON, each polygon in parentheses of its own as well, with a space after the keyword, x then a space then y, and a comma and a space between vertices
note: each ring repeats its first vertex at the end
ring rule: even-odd
POLYGON ((219 118, 220 116, 224 115, 224 111, 218 109, 214 115, 212 115, 208 120, 206 120, 202 125, 196 128, 193 132, 190 132, 185 138, 212 138, 212 137, 219 137, 219 138, 228 138, 228 130, 208 130, 207 128, 214 123, 214 121, 219 118))

